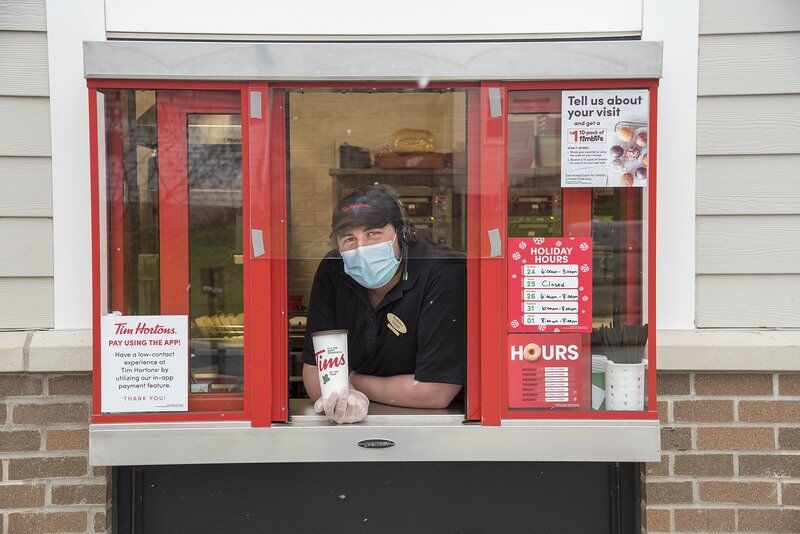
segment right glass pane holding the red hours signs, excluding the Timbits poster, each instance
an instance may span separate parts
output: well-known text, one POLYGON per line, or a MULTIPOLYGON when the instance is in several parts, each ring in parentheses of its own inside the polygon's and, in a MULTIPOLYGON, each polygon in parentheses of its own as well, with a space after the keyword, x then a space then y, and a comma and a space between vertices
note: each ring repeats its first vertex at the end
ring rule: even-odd
MULTIPOLYGON (((638 343, 647 335, 647 186, 562 189, 564 134, 561 91, 509 92, 509 252, 511 244, 521 249, 508 258, 510 268, 516 268, 513 261, 525 260, 528 250, 543 247, 536 253, 542 255, 531 252, 530 264, 520 266, 524 272, 510 273, 508 278, 509 319, 521 314, 521 319, 509 324, 512 357, 507 370, 512 410, 606 410, 606 378, 612 374, 609 370, 620 369, 614 364, 639 362, 637 372, 645 365, 641 362, 646 359, 646 346, 638 343), (569 229, 564 226, 564 214, 569 214, 569 229), (573 228, 581 229, 575 238, 570 237, 573 228), (583 233, 584 228, 585 232, 591 228, 591 242, 581 245, 592 255, 581 264, 566 247, 588 235, 583 233), (528 237, 534 239, 520 239, 528 237), (581 272, 591 275, 588 294, 581 295, 581 272), (529 284, 524 286, 529 289, 521 291, 521 298, 516 294, 520 283, 529 284), (582 305, 583 299, 591 299, 588 310, 582 305), (573 321, 578 325, 581 314, 586 313, 591 313, 590 323, 569 326, 573 321), (553 363, 558 357, 548 350, 559 350, 555 347, 560 345, 567 347, 564 350, 574 346, 581 355, 576 362, 582 363, 573 365, 567 357, 553 363), (527 355, 528 363, 515 360, 514 350, 527 355), (521 393, 523 390, 525 393, 521 393)), ((616 144, 625 144, 616 131, 612 138, 616 144)), ((628 139, 629 144, 637 143, 636 154, 645 154, 640 163, 644 166, 646 140, 646 134, 628 139)), ((616 151, 619 147, 609 145, 606 149, 616 151)), ((644 377, 638 382, 644 409, 646 382, 644 377)))

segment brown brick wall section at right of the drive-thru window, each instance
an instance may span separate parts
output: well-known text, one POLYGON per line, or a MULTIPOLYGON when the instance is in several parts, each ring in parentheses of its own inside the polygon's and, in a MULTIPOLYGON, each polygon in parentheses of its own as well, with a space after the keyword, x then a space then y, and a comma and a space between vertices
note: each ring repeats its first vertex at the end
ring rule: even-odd
POLYGON ((648 532, 800 532, 800 373, 659 374, 648 532))

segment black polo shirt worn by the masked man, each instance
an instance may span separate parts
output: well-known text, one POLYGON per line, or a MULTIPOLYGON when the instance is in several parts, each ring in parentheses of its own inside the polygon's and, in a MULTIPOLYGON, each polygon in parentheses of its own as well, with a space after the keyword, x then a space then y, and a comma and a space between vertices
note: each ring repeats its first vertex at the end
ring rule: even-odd
POLYGON ((346 329, 350 371, 413 374, 420 382, 464 384, 466 376, 466 268, 449 249, 417 243, 401 264, 405 273, 376 308, 367 289, 344 272, 338 252, 320 262, 308 307, 303 361, 316 365, 312 332, 346 329), (386 315, 406 326, 397 335, 386 315))

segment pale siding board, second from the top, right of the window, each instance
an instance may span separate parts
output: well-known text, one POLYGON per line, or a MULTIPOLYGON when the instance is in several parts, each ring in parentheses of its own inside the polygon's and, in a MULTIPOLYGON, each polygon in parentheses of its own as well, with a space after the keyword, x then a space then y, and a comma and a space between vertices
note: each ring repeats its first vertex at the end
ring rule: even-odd
POLYGON ((700 37, 697 92, 800 93, 800 32, 700 37))

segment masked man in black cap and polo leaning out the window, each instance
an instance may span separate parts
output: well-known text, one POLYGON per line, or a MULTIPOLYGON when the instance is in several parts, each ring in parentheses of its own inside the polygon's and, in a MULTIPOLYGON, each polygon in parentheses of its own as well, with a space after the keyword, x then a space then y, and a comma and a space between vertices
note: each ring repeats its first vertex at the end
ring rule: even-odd
POLYGON ((450 249, 418 240, 397 196, 350 191, 331 221, 333 250, 311 286, 303 383, 314 409, 358 422, 369 401, 445 408, 466 369, 466 270, 450 249), (350 389, 321 399, 313 332, 346 329, 350 389))

